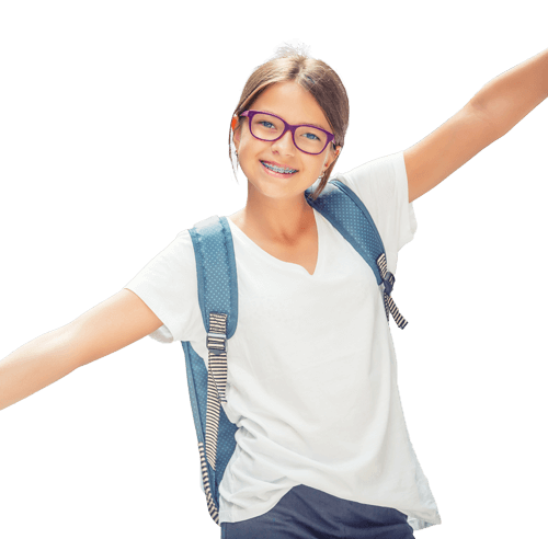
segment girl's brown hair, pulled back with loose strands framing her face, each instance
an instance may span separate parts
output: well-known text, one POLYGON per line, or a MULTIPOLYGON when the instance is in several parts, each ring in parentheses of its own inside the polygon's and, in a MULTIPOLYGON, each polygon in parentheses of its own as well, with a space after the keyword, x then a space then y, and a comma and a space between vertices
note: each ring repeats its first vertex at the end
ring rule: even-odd
MULTIPOLYGON (((276 48, 274 50, 276 50, 276 48)), ((346 87, 339 73, 334 71, 329 64, 312 58, 308 54, 292 49, 282 51, 272 59, 267 59, 248 77, 232 115, 232 117, 236 116, 238 118, 235 133, 242 126, 240 114, 251 108, 253 102, 269 87, 276 82, 285 81, 295 81, 301 88, 310 92, 316 99, 326 114, 326 118, 335 136, 333 145, 341 146, 342 151, 350 123, 350 100, 346 87)), ((232 130, 229 129, 228 154, 235 177, 238 181, 239 164, 238 158, 236 157, 235 168, 233 151, 232 130)), ((339 153, 336 159, 333 160, 331 165, 322 174, 320 184, 311 195, 312 200, 316 200, 326 187, 340 156, 341 153, 339 153)))

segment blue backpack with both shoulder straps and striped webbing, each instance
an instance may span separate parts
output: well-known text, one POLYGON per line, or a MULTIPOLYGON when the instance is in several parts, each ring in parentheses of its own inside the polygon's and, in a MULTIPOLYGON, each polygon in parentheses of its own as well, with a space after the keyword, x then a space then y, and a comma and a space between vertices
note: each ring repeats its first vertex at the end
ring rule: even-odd
MULTIPOLYGON (((307 203, 326 217, 364 257, 384 285, 385 310, 399 329, 408 321, 401 316, 391 293, 393 275, 387 271, 385 248, 367 208, 343 183, 332 180, 320 196, 307 203)), ((208 368, 190 342, 184 351, 186 383, 199 455, 199 486, 207 511, 219 523, 219 484, 236 449, 238 427, 228 420, 221 402, 226 400, 227 343, 238 324, 238 279, 230 226, 226 217, 212 216, 189 230, 196 256, 198 300, 207 332, 208 368)))

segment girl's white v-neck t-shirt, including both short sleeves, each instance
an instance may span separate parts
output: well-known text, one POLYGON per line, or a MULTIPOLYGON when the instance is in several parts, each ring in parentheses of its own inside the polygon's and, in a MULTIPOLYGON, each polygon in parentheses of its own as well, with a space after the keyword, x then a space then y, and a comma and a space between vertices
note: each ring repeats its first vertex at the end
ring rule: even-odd
MULTIPOLYGON (((388 270, 396 274, 398 252, 416 232, 403 152, 333 179, 369 210, 388 270)), ((319 252, 312 275, 270 255, 228 220, 239 312, 228 341, 222 406, 239 429, 219 488, 220 521, 260 516, 305 484, 343 500, 393 507, 408 515, 415 531, 441 524, 403 415, 381 287, 341 233, 321 214, 313 215, 319 252)), ((163 322, 151 339, 190 341, 207 364, 187 230, 126 288, 163 322)))

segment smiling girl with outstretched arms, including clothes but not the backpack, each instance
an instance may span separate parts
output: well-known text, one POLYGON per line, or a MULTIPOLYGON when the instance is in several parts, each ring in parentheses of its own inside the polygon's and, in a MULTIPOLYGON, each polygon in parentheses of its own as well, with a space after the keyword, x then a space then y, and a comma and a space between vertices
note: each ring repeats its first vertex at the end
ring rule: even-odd
MULTIPOLYGON (((369 210, 390 272, 416 230, 412 203, 546 100, 547 65, 548 49, 410 148, 333 176, 369 210)), ((321 194, 347 127, 338 73, 284 48, 252 72, 231 118, 248 198, 229 217, 240 311, 226 412, 239 431, 220 486, 224 538, 403 539, 441 524, 378 286, 305 197, 321 194)), ((0 409, 147 335, 207 358, 187 230, 117 294, 1 360, 0 409)))

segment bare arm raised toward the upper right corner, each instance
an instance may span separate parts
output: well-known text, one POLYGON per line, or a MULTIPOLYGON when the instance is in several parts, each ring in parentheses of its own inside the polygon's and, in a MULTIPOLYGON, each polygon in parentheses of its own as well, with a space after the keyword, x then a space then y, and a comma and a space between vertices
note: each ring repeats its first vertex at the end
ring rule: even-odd
POLYGON ((409 202, 499 140, 548 98, 548 48, 500 73, 430 135, 403 151, 409 202))

